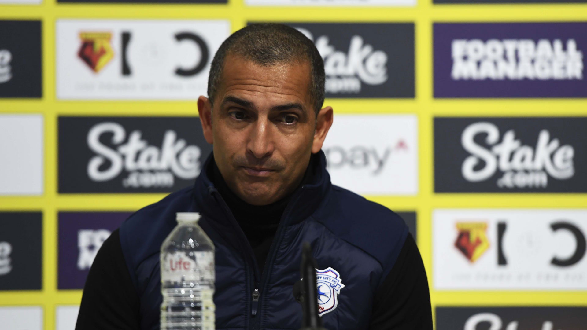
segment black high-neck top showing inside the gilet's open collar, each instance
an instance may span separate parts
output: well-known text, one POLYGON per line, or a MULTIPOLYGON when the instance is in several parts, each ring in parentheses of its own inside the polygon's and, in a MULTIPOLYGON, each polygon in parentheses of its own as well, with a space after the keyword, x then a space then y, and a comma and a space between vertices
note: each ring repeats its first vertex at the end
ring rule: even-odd
POLYGON ((216 162, 212 159, 212 168, 208 170, 208 177, 210 177, 210 180, 214 183, 222 198, 224 198, 238 225, 245 233, 245 236, 247 236, 247 240, 251 244, 255 254, 255 260, 257 260, 259 273, 265 267, 269 248, 271 248, 271 243, 273 243, 275 232, 277 231, 277 226, 285 211, 285 207, 288 206, 295 191, 299 190, 304 184, 312 183, 314 179, 314 158, 315 156, 312 155, 303 179, 293 193, 281 198, 281 200, 264 206, 251 205, 233 193, 228 187, 228 184, 226 184, 226 181, 224 181, 216 162))

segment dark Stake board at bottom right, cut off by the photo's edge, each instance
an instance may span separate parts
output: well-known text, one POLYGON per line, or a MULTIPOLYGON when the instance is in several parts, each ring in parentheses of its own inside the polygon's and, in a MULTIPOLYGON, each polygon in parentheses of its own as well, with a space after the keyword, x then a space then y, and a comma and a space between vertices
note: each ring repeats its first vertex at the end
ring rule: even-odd
POLYGON ((587 307, 436 308, 437 330, 578 330, 585 324, 587 307))

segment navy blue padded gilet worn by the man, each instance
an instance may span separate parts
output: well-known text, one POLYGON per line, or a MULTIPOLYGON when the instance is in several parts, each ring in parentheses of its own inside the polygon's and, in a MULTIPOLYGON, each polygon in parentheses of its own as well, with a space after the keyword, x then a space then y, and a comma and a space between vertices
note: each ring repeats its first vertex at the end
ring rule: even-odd
POLYGON ((207 177, 205 161, 193 187, 176 191, 131 215, 120 227, 120 244, 140 301, 141 329, 159 329, 163 240, 176 212, 200 212, 200 226, 216 248, 216 329, 299 329, 302 308, 292 293, 300 280, 302 243, 318 264, 319 309, 326 329, 367 329, 373 297, 392 270, 408 229, 380 204, 333 186, 322 151, 315 176, 292 196, 281 217, 265 268, 227 204, 207 177), (258 290, 258 299, 253 298, 258 290))

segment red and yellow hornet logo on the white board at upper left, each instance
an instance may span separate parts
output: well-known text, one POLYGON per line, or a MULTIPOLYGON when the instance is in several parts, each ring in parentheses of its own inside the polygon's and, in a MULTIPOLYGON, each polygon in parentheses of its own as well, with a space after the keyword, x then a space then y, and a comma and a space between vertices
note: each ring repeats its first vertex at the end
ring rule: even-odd
POLYGON ((77 56, 86 62, 94 72, 99 72, 114 57, 114 50, 110 46, 112 33, 110 32, 80 32, 82 47, 77 56))

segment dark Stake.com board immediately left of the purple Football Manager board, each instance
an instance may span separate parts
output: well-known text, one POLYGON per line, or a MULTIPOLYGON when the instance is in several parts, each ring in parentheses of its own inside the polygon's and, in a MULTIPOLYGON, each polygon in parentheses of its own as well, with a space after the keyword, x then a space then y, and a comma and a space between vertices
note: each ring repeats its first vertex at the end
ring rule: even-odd
POLYGON ((286 23, 324 60, 326 97, 414 97, 413 23, 286 23))

